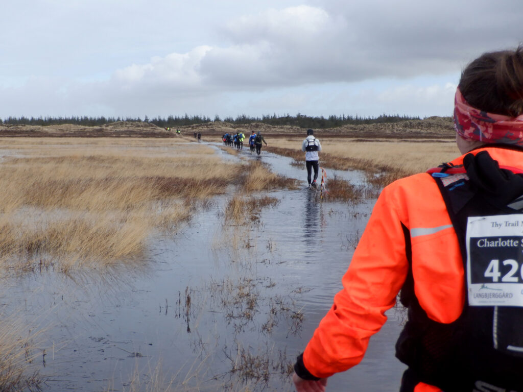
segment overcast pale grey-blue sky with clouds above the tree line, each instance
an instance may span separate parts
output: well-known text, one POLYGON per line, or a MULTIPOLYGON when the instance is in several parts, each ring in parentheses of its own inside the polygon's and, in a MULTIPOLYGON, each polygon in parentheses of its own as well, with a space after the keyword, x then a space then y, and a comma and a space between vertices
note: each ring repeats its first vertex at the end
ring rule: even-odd
POLYGON ((0 118, 450 116, 521 0, 3 2, 0 118))

